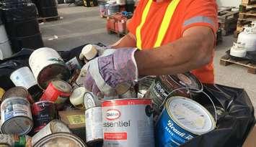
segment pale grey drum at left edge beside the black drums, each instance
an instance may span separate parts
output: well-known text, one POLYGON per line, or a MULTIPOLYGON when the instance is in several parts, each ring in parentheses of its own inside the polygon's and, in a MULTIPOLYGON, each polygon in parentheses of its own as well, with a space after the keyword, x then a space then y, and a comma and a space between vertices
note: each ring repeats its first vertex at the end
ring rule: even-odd
POLYGON ((9 43, 4 25, 0 25, 0 60, 12 56, 12 47, 9 43))

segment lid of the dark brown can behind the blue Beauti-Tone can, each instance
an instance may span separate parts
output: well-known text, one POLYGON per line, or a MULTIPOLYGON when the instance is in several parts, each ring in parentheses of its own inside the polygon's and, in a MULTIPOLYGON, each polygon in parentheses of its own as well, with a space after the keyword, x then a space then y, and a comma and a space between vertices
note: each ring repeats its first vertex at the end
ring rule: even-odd
POLYGON ((181 85, 182 87, 190 87, 196 90, 203 89, 202 83, 198 80, 197 77, 195 77, 195 75, 191 74, 190 72, 177 75, 169 75, 169 77, 171 77, 172 80, 175 80, 175 82, 177 82, 177 84, 181 85))

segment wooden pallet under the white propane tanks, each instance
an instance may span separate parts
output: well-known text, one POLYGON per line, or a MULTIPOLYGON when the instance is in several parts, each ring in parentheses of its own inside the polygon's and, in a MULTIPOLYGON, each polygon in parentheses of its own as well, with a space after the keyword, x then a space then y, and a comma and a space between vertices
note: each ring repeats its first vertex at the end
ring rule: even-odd
POLYGON ((256 65, 252 64, 249 60, 241 60, 241 61, 231 60, 228 54, 225 54, 223 57, 221 57, 220 65, 228 66, 231 64, 247 67, 248 73, 256 74, 256 65))

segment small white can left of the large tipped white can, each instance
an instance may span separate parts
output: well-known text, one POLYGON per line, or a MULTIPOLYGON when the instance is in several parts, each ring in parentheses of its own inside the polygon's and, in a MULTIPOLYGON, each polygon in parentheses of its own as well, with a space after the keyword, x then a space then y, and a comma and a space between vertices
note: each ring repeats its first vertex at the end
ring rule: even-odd
POLYGON ((37 81, 29 67, 21 67, 12 72, 10 79, 15 86, 25 87, 27 90, 30 87, 37 85, 37 81))

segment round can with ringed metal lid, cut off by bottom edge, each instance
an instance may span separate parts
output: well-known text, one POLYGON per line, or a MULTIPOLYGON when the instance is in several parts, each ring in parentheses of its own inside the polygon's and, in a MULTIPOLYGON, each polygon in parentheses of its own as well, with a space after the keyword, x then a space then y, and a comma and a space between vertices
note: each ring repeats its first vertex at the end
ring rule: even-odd
POLYGON ((35 143, 33 147, 87 147, 83 141, 72 133, 53 133, 49 136, 45 136, 40 141, 35 143))

